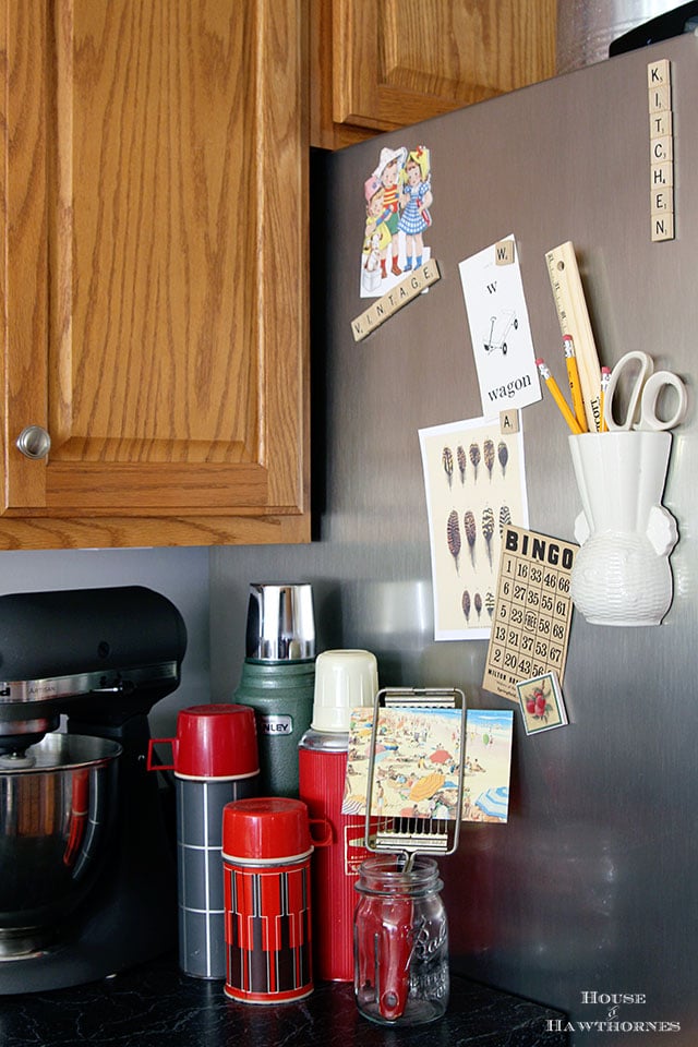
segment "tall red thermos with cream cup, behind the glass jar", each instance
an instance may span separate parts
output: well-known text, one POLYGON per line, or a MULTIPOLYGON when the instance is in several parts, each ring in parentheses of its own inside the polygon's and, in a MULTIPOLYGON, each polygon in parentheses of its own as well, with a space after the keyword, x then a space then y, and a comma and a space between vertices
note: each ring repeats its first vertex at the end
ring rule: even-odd
POLYGON ((342 815, 341 804, 351 709, 373 706, 377 690, 377 663, 370 651, 318 654, 313 719, 299 745, 299 787, 311 818, 332 827, 332 843, 312 857, 314 970, 328 982, 353 980, 353 888, 369 852, 364 816, 342 815))

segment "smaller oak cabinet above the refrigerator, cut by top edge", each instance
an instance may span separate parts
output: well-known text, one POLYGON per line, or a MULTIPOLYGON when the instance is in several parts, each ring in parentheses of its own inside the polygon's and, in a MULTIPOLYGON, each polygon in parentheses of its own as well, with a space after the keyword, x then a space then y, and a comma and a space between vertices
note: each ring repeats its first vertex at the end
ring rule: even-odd
POLYGON ((556 0, 311 0, 311 144, 335 149, 555 74, 556 0))

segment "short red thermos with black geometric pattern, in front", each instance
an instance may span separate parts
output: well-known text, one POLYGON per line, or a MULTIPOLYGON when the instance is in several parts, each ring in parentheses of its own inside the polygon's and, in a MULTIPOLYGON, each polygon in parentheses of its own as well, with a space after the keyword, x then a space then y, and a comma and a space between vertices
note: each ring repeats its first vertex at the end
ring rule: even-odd
POLYGON ((285 1003, 313 991, 308 807, 261 797, 222 817, 225 992, 245 1003, 285 1003))

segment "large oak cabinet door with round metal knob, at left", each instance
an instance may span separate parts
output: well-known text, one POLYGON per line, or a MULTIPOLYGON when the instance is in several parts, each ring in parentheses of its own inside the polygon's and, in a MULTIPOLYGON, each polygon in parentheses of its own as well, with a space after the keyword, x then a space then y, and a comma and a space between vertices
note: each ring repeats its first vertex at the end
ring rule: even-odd
POLYGON ((0 12, 0 547, 308 541, 305 0, 0 12))

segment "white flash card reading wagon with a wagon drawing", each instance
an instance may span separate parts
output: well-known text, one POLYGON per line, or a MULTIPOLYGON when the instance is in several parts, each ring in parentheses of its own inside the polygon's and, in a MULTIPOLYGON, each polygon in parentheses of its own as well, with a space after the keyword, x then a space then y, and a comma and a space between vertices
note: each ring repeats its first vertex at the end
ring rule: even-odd
POLYGON ((459 270, 483 414, 535 404, 542 393, 514 237, 459 270))

